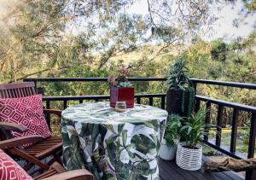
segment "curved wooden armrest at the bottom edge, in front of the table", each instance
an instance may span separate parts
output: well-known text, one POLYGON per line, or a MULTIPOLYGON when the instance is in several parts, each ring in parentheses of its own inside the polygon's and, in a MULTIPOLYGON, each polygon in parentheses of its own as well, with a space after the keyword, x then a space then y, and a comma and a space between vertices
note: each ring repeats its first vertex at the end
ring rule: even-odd
POLYGON ((93 175, 90 173, 90 171, 81 169, 81 170, 63 172, 61 174, 57 174, 52 177, 44 178, 44 180, 56 180, 56 179, 58 180, 72 180, 72 179, 89 180, 89 179, 92 179, 92 177, 93 175))

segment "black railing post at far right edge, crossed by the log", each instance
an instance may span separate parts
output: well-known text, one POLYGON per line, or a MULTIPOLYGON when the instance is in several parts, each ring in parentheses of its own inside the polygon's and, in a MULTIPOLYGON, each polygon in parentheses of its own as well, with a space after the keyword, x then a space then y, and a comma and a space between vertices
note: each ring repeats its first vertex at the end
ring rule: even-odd
MULTIPOLYGON (((249 148, 247 158, 254 157, 254 147, 255 147, 255 136, 256 136, 256 113, 252 113, 251 127, 250 127, 250 137, 249 137, 249 148)), ((246 180, 252 180, 256 178, 256 171, 247 171, 246 180)))

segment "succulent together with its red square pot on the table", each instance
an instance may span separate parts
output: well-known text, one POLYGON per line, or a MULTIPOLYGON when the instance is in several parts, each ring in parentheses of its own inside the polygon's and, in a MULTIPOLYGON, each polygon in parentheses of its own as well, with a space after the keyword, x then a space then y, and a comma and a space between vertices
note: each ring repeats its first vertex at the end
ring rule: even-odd
POLYGON ((115 107, 116 102, 126 102, 127 108, 134 106, 134 88, 127 79, 128 73, 128 69, 120 68, 117 76, 108 77, 110 107, 115 107))

